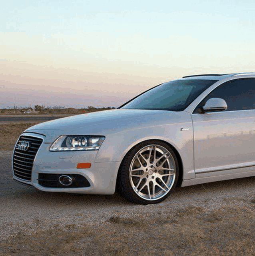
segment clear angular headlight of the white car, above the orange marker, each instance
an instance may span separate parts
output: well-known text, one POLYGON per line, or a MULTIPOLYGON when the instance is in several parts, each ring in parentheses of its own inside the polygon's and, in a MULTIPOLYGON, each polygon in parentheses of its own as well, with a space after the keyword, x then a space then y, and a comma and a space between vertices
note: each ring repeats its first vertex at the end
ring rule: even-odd
POLYGON ((50 147, 50 151, 99 150, 105 136, 62 135, 50 147))

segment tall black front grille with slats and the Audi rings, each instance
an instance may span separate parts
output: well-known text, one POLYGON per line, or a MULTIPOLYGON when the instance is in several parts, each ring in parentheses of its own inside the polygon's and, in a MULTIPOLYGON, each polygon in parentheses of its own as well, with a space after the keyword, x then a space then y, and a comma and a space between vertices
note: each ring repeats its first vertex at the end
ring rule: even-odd
POLYGON ((12 160, 14 175, 16 177, 31 181, 34 158, 42 141, 41 138, 37 137, 20 136, 16 148, 14 149, 12 160), (29 144, 29 147, 26 148, 26 146, 20 146, 22 145, 22 141, 25 145, 29 144))

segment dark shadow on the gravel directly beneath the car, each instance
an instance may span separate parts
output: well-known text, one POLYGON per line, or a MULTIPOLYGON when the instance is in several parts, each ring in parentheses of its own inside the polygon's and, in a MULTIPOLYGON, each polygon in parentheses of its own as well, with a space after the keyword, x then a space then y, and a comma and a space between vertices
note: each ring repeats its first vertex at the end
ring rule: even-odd
MULTIPOLYGON (((175 188, 171 196, 165 200, 165 202, 181 202, 185 198, 193 198, 199 200, 199 198, 211 198, 213 193, 215 198, 220 198, 221 196, 231 195, 231 190, 240 189, 245 187, 253 187, 255 184, 255 177, 239 178, 235 180, 225 180, 219 182, 211 182, 206 184, 199 184, 194 186, 188 186, 183 188, 175 188)), ((81 206, 84 205, 94 206, 102 204, 104 206, 128 206, 133 205, 128 202, 118 192, 113 195, 98 195, 98 194, 71 194, 63 192, 44 192, 37 190, 33 187, 23 186, 22 184, 17 184, 15 181, 11 180, 8 182, 8 187, 6 187, 8 192, 6 195, 1 195, 1 197, 6 197, 6 200, 22 200, 23 202, 29 202, 30 204, 54 204, 54 205, 72 205, 81 206)), ((251 195, 254 197, 254 194, 251 195)), ((254 198, 253 198, 254 199, 254 198)))

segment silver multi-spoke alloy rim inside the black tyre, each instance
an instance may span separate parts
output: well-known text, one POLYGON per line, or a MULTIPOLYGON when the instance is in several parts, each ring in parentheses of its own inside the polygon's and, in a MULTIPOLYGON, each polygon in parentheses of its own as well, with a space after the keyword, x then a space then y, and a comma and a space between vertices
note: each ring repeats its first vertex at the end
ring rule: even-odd
POLYGON ((175 182, 176 166, 172 154, 163 146, 148 145, 133 157, 129 180, 133 191, 142 199, 158 200, 175 182))

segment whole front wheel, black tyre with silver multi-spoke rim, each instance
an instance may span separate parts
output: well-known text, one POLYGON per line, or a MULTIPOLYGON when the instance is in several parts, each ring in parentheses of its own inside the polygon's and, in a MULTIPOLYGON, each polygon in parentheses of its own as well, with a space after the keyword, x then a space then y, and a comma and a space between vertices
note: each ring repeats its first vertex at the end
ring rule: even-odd
POLYGON ((126 199, 141 204, 164 200, 178 179, 178 162, 164 142, 149 140, 132 148, 119 174, 119 190, 126 199))

